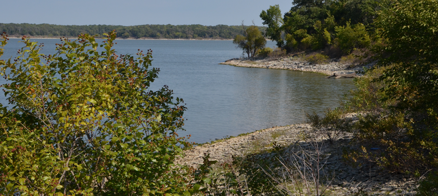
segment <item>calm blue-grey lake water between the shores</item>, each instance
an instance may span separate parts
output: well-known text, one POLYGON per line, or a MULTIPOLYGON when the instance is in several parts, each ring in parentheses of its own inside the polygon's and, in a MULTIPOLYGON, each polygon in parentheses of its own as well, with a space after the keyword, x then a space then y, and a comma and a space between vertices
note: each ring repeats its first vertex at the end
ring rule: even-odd
MULTIPOLYGON (((11 39, 2 59, 15 56, 24 46, 11 39)), ((55 53, 59 39, 36 39, 44 43, 44 54, 55 53)), ((268 46, 274 43, 268 41, 268 46)), ((137 49, 153 50, 153 66, 159 78, 152 89, 168 85, 175 97, 184 99, 186 131, 192 142, 207 142, 273 126, 306 122, 305 114, 323 114, 339 106, 339 98, 353 89, 351 79, 325 79, 324 76, 299 71, 219 65, 240 57, 232 41, 192 40, 117 40, 120 54, 134 54, 137 49)), ((1 78, 0 83, 5 83, 1 78)), ((3 93, 0 103, 6 105, 3 93)))

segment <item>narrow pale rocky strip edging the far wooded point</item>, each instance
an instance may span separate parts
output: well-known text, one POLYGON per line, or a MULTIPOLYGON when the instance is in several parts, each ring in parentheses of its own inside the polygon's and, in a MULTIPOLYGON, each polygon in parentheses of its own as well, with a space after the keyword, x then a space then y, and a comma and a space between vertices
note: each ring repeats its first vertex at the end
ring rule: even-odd
MULTIPOLYGON (((350 74, 359 73, 363 71, 363 68, 371 68, 374 63, 367 65, 352 66, 340 62, 339 59, 330 59, 329 62, 324 64, 310 63, 299 57, 287 56, 277 59, 247 59, 247 58, 234 58, 225 62, 219 63, 224 65, 233 65, 237 67, 255 67, 255 68, 268 68, 268 69, 287 69, 294 71, 304 72, 316 72, 324 75, 333 74, 350 74)), ((360 74, 359 74, 360 75, 360 74)))

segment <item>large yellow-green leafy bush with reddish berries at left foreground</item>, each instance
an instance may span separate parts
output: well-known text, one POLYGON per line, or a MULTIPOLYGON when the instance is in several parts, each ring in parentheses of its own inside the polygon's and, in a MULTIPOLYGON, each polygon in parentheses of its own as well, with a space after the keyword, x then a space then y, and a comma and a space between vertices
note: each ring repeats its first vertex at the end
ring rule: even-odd
MULTIPOLYGON (((117 55, 116 33, 61 39, 54 55, 23 37, 0 61, 11 109, 0 110, 0 194, 168 195, 189 188, 175 157, 185 107, 164 86, 152 50, 117 55)), ((3 34, 0 55, 7 43, 3 34)), ((188 192, 185 192, 188 194, 188 192)))

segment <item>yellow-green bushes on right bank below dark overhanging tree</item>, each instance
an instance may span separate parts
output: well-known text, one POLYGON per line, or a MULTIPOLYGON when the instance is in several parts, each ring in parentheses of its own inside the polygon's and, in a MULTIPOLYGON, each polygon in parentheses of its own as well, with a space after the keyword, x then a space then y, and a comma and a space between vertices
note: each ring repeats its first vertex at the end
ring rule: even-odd
MULTIPOLYGON (((349 152, 346 157, 351 160, 372 160, 397 172, 436 168, 436 131, 428 125, 434 122, 425 121, 430 118, 425 115, 419 118, 415 116, 417 113, 399 109, 400 102, 390 99, 387 92, 381 90, 386 89, 386 83, 377 78, 393 70, 393 66, 376 68, 368 71, 367 76, 355 80, 357 90, 352 92, 346 108, 362 113, 353 132, 357 144, 362 148, 357 152, 349 152), (370 151, 370 148, 380 150, 370 151)), ((387 78, 387 82, 390 79, 387 78)), ((405 98, 411 99, 409 96, 405 98)))

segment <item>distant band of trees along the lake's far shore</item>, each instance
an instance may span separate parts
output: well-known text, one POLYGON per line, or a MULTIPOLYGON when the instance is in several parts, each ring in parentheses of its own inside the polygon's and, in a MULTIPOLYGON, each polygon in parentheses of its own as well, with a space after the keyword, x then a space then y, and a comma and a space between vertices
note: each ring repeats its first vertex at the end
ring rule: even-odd
MULTIPOLYGON (((266 27, 258 27, 264 31, 266 27)), ((77 37, 80 34, 101 36, 115 30, 119 38, 154 39, 233 39, 243 35, 241 26, 203 26, 203 25, 49 25, 49 24, 4 24, 0 23, 0 32, 21 37, 77 37)))

